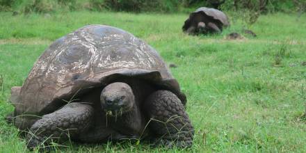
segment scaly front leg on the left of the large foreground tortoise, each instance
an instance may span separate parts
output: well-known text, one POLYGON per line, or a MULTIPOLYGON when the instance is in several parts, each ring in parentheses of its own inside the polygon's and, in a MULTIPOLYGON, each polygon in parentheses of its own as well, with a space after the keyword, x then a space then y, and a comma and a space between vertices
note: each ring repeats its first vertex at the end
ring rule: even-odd
POLYGON ((90 127, 93 115, 92 106, 81 103, 70 103, 54 113, 43 115, 26 135, 27 147, 33 149, 73 138, 90 127))

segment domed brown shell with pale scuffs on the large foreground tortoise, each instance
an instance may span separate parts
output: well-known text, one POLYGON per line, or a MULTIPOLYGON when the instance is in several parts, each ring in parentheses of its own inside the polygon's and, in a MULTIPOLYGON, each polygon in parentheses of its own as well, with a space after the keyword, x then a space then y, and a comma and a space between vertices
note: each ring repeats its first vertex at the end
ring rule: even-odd
POLYGON ((146 79, 186 104, 156 50, 131 33, 104 25, 84 26, 56 40, 35 62, 23 86, 12 88, 11 102, 16 115, 44 115, 63 106, 63 100, 106 86, 118 76, 146 79))

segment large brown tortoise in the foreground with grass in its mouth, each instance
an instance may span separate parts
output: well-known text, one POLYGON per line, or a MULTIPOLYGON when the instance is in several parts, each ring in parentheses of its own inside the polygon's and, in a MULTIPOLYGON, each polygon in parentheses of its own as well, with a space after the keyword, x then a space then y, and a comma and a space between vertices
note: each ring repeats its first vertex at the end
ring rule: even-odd
POLYGON ((84 26, 56 40, 23 86, 12 88, 11 102, 8 120, 29 131, 30 149, 68 138, 148 138, 167 147, 193 141, 186 96, 161 56, 111 26, 84 26))

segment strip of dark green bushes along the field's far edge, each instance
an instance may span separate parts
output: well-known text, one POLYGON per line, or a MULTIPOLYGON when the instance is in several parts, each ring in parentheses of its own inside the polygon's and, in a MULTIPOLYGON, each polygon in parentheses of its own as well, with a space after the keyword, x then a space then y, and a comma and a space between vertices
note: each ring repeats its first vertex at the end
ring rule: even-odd
POLYGON ((0 0, 0 11, 51 13, 56 10, 115 10, 128 12, 189 13, 199 6, 252 13, 305 10, 303 0, 0 0), (221 6, 222 4, 222 6, 221 6))

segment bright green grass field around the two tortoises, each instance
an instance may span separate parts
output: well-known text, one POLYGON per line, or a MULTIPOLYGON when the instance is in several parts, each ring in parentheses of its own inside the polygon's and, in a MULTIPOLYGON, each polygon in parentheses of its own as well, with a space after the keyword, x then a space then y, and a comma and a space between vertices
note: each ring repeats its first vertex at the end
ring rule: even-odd
MULTIPOLYGON (((233 19, 222 35, 182 33, 186 14, 0 13, 0 117, 52 41, 86 24, 117 26, 154 47, 188 97, 193 147, 150 149, 146 143, 65 143, 57 152, 306 152, 306 15, 273 14, 250 26, 257 38, 225 40, 241 31, 233 19), (234 22, 233 22, 234 21, 234 22)), ((28 152, 18 131, 0 118, 0 152, 28 152)))

